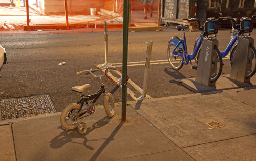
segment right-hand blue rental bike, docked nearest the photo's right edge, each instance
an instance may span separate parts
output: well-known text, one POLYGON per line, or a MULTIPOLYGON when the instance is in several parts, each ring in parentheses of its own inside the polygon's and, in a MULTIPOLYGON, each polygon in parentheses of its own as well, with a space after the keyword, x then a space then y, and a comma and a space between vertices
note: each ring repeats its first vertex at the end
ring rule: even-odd
MULTIPOLYGON (((221 52, 221 57, 226 57, 228 55, 228 53, 230 52, 230 50, 232 49, 234 43, 238 43, 239 41, 239 36, 245 36, 244 33, 248 33, 248 35, 246 35, 247 37, 250 37, 250 33, 252 32, 253 28, 252 28, 252 21, 250 18, 248 17, 243 17, 240 19, 240 24, 236 24, 236 21, 230 17, 230 16, 226 16, 226 17, 219 17, 218 18, 219 20, 230 20, 231 21, 231 24, 232 24, 232 29, 230 31, 233 32, 233 37, 231 38, 229 44, 227 45, 226 49, 221 52)), ((199 38, 198 38, 199 39, 199 38)), ((197 42, 195 42, 195 45, 196 45, 197 42)), ((231 54, 230 54, 230 63, 231 63, 231 66, 233 65, 233 58, 234 58, 234 55, 236 53, 236 50, 237 50, 237 44, 233 47, 232 51, 231 51, 231 54)), ((200 50, 199 50, 199 53, 200 53, 200 50)), ((200 57, 200 54, 198 53, 197 55, 197 60, 199 60, 199 57, 200 57)), ((255 72, 256 72, 256 63, 255 63, 255 54, 256 54, 256 50, 255 50, 255 47, 250 44, 249 46, 249 60, 250 60, 250 63, 252 64, 251 66, 251 69, 248 70, 248 72, 246 73, 246 78, 250 78, 252 77, 255 72)))

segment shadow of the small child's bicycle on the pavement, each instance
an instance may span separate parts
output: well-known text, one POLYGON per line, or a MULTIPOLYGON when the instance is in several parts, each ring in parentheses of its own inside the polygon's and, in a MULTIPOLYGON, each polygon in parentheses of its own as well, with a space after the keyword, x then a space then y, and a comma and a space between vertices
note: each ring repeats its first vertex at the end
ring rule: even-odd
MULTIPOLYGON (((92 132, 93 130, 97 129, 97 128, 101 128, 103 126, 105 126, 106 124, 108 124, 110 122, 110 118, 108 116, 105 116, 104 118, 100 119, 99 121, 97 121, 96 123, 94 123, 92 125, 92 127, 88 127, 86 130, 86 133, 84 135, 81 135, 78 132, 78 129, 73 129, 73 130, 66 130, 64 128, 62 128, 62 126, 59 126, 58 129, 62 129, 63 131, 57 135, 56 137, 54 137, 51 141, 50 141, 50 147, 53 149, 58 149, 61 148, 62 146, 64 146, 67 143, 77 143, 77 144, 83 144, 84 147, 88 148, 89 150, 94 150, 93 147, 87 145, 88 141, 95 141, 95 140, 88 140, 86 138, 86 135, 88 135, 90 132, 92 132), (78 143, 78 142, 73 142, 73 139, 77 139, 77 138, 82 138, 84 139, 83 143, 78 143)), ((102 138, 102 139, 97 139, 97 140, 106 140, 107 138, 102 138)))

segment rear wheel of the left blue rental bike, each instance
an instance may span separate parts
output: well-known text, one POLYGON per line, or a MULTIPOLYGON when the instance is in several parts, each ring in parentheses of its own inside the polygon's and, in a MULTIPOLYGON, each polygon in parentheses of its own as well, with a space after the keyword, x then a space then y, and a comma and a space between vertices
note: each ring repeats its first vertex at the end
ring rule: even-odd
MULTIPOLYGON (((178 55, 174 55, 172 53, 174 48, 175 48, 175 46, 168 44, 167 58, 168 58, 170 66, 174 70, 179 70, 183 66, 182 57, 180 57, 178 55)), ((176 50, 178 50, 178 49, 176 49, 176 50)))

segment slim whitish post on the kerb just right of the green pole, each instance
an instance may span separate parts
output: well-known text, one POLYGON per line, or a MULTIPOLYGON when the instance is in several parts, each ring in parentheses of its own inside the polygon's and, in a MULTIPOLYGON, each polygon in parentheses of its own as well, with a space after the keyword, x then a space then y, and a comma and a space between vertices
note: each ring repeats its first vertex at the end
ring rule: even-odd
POLYGON ((150 68, 150 59, 151 59, 151 51, 152 51, 152 41, 148 41, 147 51, 146 51, 146 64, 145 64, 145 72, 144 72, 144 81, 143 81, 143 93, 142 96, 138 98, 138 100, 143 100, 146 98, 147 92, 147 82, 148 82, 148 69, 150 68))

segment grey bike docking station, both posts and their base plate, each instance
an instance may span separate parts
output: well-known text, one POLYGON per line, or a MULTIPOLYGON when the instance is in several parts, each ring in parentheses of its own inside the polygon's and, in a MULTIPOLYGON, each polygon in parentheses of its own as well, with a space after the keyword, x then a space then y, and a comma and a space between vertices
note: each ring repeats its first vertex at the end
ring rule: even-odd
POLYGON ((216 54, 217 49, 215 49, 218 48, 218 40, 205 37, 202 41, 196 77, 176 79, 176 81, 195 93, 255 86, 256 76, 251 78, 247 78, 246 76, 252 68, 251 60, 255 57, 249 52, 251 49, 250 45, 253 45, 253 43, 254 40, 250 36, 239 36, 230 75, 217 76, 218 80, 214 80, 212 76, 216 75, 216 71, 218 71, 218 63, 220 66, 222 65, 222 62, 220 63, 219 60, 221 56, 219 57, 218 54, 216 54))

